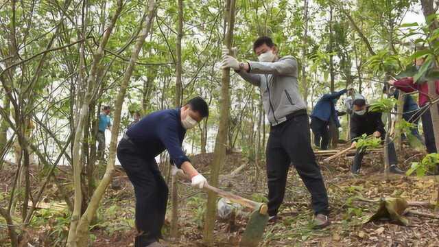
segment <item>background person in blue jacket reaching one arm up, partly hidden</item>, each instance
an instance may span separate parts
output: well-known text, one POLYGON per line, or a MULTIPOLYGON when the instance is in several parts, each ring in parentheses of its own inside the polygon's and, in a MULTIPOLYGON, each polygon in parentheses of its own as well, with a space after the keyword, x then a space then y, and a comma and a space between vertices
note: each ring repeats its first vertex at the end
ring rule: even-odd
POLYGON ((340 96, 346 92, 347 89, 343 89, 342 91, 323 95, 311 112, 311 130, 313 130, 314 134, 314 144, 321 150, 328 149, 329 122, 333 121, 337 128, 340 127, 335 104, 337 103, 337 99, 340 99, 340 96))

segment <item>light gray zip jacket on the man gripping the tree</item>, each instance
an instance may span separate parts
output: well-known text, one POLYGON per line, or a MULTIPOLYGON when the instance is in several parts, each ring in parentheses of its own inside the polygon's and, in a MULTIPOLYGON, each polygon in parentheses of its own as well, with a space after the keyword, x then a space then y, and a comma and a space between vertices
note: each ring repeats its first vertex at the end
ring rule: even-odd
POLYGON ((287 120, 286 116, 306 109, 297 82, 297 61, 285 56, 275 62, 248 62, 250 72, 238 71, 241 78, 259 86, 263 108, 272 126, 287 120))

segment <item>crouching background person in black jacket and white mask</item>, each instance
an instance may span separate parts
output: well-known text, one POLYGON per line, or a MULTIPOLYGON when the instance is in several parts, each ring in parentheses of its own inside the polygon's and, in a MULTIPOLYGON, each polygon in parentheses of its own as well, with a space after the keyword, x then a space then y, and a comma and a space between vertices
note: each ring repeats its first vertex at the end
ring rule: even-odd
MULTIPOLYGON (((372 112, 366 104, 366 98, 363 95, 355 95, 353 99, 353 113, 351 115, 351 148, 357 148, 357 139, 363 134, 368 136, 373 135, 381 139, 383 145, 388 145, 388 164, 390 165, 390 172, 394 174, 405 174, 398 168, 398 159, 396 158, 396 150, 392 140, 385 143, 385 128, 381 119, 382 113, 372 112)), ((351 167, 351 172, 355 175, 359 174, 361 168, 361 161, 363 160, 365 147, 357 148, 355 152, 354 162, 351 167)))

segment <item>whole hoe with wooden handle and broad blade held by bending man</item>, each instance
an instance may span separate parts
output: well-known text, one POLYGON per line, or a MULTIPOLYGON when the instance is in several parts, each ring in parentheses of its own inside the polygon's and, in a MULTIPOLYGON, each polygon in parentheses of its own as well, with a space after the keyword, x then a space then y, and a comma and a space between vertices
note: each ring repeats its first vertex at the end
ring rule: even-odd
MULTIPOLYGON (((177 174, 186 180, 190 180, 189 177, 182 172, 177 172, 177 174)), ((261 242, 263 232, 265 231, 265 226, 268 222, 267 204, 248 200, 247 198, 223 191, 222 189, 218 189, 211 185, 204 185, 203 190, 206 192, 213 192, 219 197, 227 198, 232 202, 236 202, 253 210, 250 215, 250 219, 248 220, 246 230, 244 230, 244 234, 241 237, 239 246, 258 246, 259 242, 261 242)))

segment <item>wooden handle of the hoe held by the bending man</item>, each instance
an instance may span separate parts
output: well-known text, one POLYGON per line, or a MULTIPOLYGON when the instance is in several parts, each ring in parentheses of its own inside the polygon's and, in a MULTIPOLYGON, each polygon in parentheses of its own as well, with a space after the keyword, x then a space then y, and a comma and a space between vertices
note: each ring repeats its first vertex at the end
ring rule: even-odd
MULTIPOLYGON (((191 180, 189 178, 189 176, 187 176, 187 174, 183 174, 181 172, 178 172, 177 174, 178 174, 178 176, 185 178, 186 180, 189 180, 189 181, 191 180)), ((238 204, 241 204, 244 207, 248 207, 250 209, 257 210, 257 211, 259 211, 259 213, 261 213, 263 215, 267 214, 268 207, 267 207, 267 204, 265 204, 265 203, 254 202, 252 200, 248 200, 247 198, 237 196, 233 193, 223 191, 222 189, 218 189, 218 188, 213 187, 211 185, 204 185, 203 190, 206 192, 211 191, 211 192, 215 193, 217 196, 220 196, 222 198, 227 198, 228 200, 230 200, 232 202, 236 202, 238 204)))

